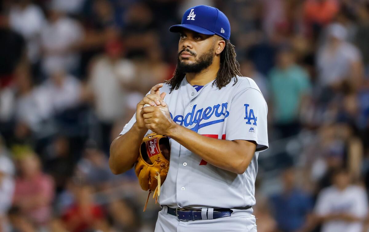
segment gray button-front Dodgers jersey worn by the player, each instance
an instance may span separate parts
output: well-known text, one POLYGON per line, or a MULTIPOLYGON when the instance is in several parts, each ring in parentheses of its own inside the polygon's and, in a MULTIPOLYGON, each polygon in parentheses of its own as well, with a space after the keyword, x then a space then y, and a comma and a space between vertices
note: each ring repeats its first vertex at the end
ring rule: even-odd
MULTIPOLYGON (((252 140, 256 152, 244 174, 215 167, 170 139, 170 166, 161 188, 159 203, 172 208, 234 208, 255 205, 255 178, 259 152, 268 148, 266 115, 268 108, 256 83, 237 76, 218 89, 213 81, 198 92, 186 78, 179 89, 169 94, 164 84, 165 102, 174 122, 203 136, 226 140, 252 140)), ((201 86, 200 86, 201 87, 201 86)), ((135 115, 125 125, 126 133, 135 123, 135 115)), ((151 132, 151 131, 149 131, 151 132)), ((227 154, 232 158, 232 154, 227 154)))

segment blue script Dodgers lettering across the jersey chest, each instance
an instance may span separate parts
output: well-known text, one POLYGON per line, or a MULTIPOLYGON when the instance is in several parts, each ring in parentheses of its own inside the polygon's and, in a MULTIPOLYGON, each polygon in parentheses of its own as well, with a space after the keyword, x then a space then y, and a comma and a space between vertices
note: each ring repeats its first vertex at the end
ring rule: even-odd
POLYGON ((224 122, 225 118, 228 117, 230 114, 230 112, 227 111, 228 102, 222 103, 221 105, 220 104, 214 105, 213 107, 208 106, 205 109, 201 108, 195 112, 196 106, 197 105, 194 105, 192 108, 192 111, 190 113, 187 113, 186 116, 177 115, 173 118, 172 113, 170 113, 170 117, 173 119, 174 122, 179 123, 181 126, 182 124, 185 127, 192 126, 193 124, 195 124, 195 126, 191 128, 191 130, 193 130, 194 132, 197 132, 200 128, 210 126, 216 123, 224 122), (210 117, 213 115, 215 117, 222 117, 222 116, 224 117, 222 119, 218 119, 218 120, 214 120, 210 122, 204 122, 200 124, 201 121, 210 119, 210 117))

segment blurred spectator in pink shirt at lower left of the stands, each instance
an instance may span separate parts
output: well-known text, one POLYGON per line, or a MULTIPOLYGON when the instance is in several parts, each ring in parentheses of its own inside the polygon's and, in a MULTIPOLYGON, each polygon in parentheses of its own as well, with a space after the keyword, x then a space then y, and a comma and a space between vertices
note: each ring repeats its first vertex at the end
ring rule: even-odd
POLYGON ((52 216, 54 181, 42 173, 36 154, 20 154, 18 164, 19 175, 15 180, 13 204, 35 225, 43 225, 52 216))

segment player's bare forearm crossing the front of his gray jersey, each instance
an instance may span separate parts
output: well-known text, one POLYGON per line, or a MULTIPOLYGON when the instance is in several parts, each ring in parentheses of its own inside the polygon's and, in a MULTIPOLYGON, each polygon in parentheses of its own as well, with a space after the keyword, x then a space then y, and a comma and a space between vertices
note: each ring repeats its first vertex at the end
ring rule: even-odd
POLYGON ((213 139, 178 124, 170 130, 168 136, 208 163, 237 174, 245 172, 256 149, 254 143, 213 139))

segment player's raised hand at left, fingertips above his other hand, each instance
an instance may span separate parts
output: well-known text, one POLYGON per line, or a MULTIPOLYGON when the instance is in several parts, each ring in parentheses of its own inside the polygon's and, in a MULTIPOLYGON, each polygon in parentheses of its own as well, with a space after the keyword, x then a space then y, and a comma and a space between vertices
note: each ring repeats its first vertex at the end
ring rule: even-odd
POLYGON ((139 129, 145 129, 145 122, 144 122, 144 118, 142 117, 142 108, 144 108, 145 104, 149 104, 151 106, 155 106, 155 105, 162 105, 162 106, 166 106, 165 102, 164 102, 164 97, 166 95, 166 93, 161 93, 159 89, 163 87, 163 84, 158 84, 155 85, 154 87, 151 88, 151 91, 148 95, 146 95, 138 104, 136 107, 136 124, 138 126, 139 129))

